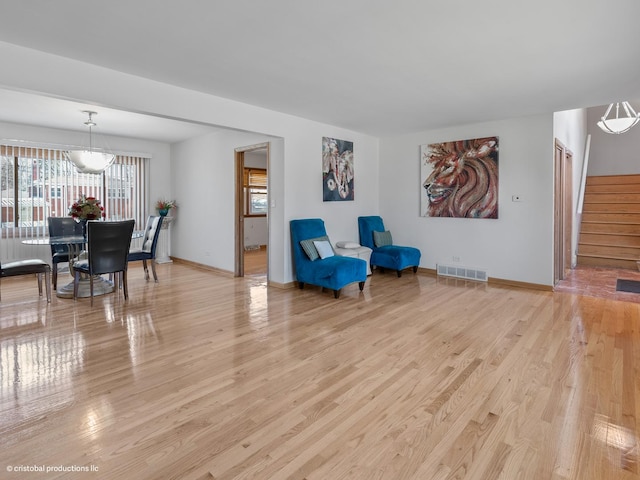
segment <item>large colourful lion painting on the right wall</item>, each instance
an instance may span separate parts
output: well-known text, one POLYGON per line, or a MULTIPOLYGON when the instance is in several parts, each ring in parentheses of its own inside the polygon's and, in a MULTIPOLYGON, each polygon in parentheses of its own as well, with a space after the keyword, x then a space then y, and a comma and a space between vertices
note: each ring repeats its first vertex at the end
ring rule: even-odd
POLYGON ((498 137, 420 148, 423 217, 498 218, 498 137))

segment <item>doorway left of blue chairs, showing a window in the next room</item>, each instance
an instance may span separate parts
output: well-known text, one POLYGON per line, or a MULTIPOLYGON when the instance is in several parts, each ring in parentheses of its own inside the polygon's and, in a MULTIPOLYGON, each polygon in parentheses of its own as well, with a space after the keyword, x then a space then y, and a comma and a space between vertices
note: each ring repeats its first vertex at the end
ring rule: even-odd
POLYGON ((235 149, 234 275, 269 270, 269 143, 235 149))

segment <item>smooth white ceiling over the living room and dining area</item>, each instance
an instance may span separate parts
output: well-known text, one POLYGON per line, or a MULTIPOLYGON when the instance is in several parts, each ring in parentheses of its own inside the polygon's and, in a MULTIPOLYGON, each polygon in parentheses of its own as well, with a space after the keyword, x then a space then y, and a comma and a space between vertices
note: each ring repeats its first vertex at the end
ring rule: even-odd
MULTIPOLYGON (((0 41, 373 135, 640 98, 638 0, 5 0, 0 14, 0 41)), ((208 131, 0 90, 0 121, 82 130, 87 109, 103 133, 208 131)))

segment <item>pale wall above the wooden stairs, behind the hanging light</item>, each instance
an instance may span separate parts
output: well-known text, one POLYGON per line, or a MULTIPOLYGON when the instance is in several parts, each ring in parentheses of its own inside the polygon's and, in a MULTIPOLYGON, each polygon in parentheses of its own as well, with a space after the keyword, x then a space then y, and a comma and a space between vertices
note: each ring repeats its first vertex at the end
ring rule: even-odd
MULTIPOLYGON (((640 109, 640 101, 631 102, 640 109)), ((615 107, 614 107, 615 108, 615 107)), ((589 175, 630 175, 640 173, 640 125, 627 133, 612 135, 603 132, 596 124, 607 105, 587 110, 587 122, 591 134, 589 175)))

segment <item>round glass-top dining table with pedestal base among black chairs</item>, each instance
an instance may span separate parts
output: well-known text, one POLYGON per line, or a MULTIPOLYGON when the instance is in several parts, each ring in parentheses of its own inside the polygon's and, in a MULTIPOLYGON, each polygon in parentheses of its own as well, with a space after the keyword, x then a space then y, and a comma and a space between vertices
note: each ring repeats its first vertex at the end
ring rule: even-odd
MULTIPOLYGON (((131 239, 142 238, 143 230, 134 230, 131 239)), ((22 240, 25 245, 67 245, 69 249, 69 272, 73 276, 73 263, 86 258, 87 251, 84 247, 87 245, 87 237, 85 235, 62 235, 57 237, 39 237, 28 238, 22 240)), ((73 281, 66 285, 58 286, 56 296, 58 298, 73 298, 73 281)), ((80 275, 78 282, 78 297, 86 298, 91 296, 90 278, 87 275, 80 275)), ((114 282, 108 280, 101 275, 93 277, 93 295, 105 295, 112 293, 114 290, 114 282)))

